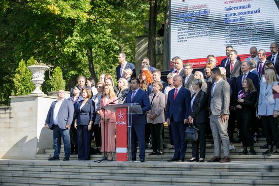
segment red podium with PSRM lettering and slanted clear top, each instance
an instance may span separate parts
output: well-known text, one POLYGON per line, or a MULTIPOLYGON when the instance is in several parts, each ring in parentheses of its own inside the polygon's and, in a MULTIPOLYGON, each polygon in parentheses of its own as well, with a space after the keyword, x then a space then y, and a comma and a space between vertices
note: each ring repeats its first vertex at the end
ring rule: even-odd
POLYGON ((116 161, 131 162, 132 116, 143 114, 142 107, 138 103, 125 103, 110 104, 104 108, 116 113, 116 161))

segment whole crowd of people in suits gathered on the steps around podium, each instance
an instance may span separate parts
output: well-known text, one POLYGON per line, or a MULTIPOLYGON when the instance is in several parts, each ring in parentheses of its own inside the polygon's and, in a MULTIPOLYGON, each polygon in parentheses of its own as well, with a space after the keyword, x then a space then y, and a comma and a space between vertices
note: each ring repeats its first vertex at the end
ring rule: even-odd
POLYGON ((137 103, 142 107, 143 114, 132 117, 132 160, 136 160, 138 145, 138 157, 144 162, 146 144, 150 142, 153 151, 149 155, 164 153, 164 122, 169 128, 169 149, 175 150, 169 162, 185 161, 185 130, 190 125, 198 129, 199 135, 197 141, 191 142, 192 158, 188 162, 205 161, 206 138, 214 140, 214 157, 207 162, 230 162, 235 128, 243 145, 239 155, 255 155, 260 125, 266 137, 266 145, 261 148, 267 148, 262 154, 277 154, 279 99, 273 97, 272 90, 279 83, 277 43, 270 44, 270 51, 267 57, 265 50, 251 47, 250 57, 240 61, 237 51, 227 46, 227 57, 219 66, 216 57, 208 55, 204 68, 194 73, 193 65, 184 64, 177 56, 172 58, 167 82, 161 80, 161 71, 150 66, 146 57, 136 77, 135 66, 120 53, 117 85, 111 75, 103 74, 96 85, 92 78, 86 81, 80 76, 68 99, 59 90, 45 125, 53 130, 54 156, 49 160, 59 160, 61 138, 63 160, 69 160, 70 154, 78 154, 79 160, 89 160, 93 137, 106 159, 113 160, 116 115, 102 109, 110 103, 137 103))

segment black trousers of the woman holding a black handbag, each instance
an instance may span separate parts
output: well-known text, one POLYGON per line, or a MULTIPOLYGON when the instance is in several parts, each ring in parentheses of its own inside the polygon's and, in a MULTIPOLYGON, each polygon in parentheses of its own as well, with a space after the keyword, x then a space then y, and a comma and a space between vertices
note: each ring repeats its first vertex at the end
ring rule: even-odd
POLYGON ((205 131, 206 131, 206 123, 197 123, 195 127, 198 128, 198 140, 192 141, 192 157, 199 158, 198 146, 200 147, 200 158, 205 158, 205 131))

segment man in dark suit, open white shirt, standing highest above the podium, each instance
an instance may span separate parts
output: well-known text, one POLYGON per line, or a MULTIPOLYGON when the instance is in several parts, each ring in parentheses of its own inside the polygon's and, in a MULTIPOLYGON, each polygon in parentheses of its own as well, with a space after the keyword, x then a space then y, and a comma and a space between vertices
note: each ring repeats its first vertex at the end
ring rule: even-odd
POLYGON ((126 55, 124 53, 119 53, 118 61, 120 64, 116 67, 117 80, 119 78, 124 78, 123 70, 126 68, 130 68, 131 70, 133 70, 133 74, 132 74, 131 78, 136 77, 135 67, 132 63, 129 63, 126 61, 126 55))

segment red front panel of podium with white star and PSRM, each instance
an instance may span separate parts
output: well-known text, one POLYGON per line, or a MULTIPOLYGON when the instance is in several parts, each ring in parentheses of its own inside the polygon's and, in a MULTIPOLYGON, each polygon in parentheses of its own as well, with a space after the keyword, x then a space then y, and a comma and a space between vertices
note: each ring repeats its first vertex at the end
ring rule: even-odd
POLYGON ((116 108, 116 161, 127 161, 127 108, 116 108))

